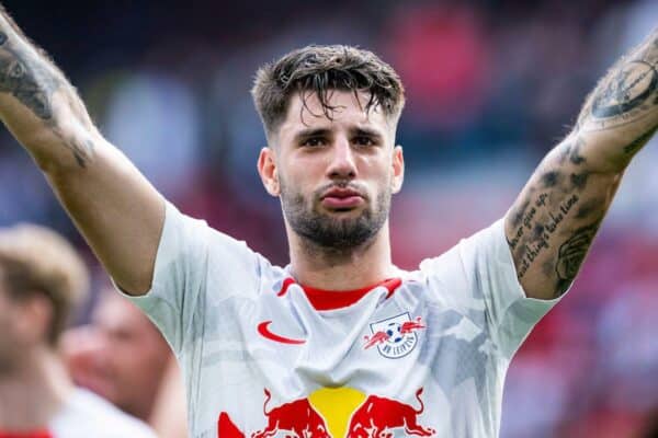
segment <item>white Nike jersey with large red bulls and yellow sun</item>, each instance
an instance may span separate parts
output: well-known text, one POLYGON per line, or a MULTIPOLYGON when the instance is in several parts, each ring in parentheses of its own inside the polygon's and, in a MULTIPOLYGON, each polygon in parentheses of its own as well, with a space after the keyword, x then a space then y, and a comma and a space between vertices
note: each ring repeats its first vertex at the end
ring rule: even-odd
POLYGON ((555 303, 525 297, 501 220, 332 292, 170 204, 152 289, 132 300, 177 354, 193 438, 496 437, 509 361, 555 303))

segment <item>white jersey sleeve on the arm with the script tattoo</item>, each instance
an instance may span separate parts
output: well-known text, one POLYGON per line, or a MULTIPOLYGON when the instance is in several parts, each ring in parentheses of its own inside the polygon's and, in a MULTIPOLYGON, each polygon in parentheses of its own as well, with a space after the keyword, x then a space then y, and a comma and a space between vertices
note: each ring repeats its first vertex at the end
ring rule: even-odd
POLYGON ((483 328, 507 358, 559 301, 526 297, 517 277, 502 219, 462 240, 442 256, 424 261, 421 269, 430 278, 438 276, 434 281, 454 284, 452 290, 458 297, 452 299, 470 312, 484 312, 483 328))

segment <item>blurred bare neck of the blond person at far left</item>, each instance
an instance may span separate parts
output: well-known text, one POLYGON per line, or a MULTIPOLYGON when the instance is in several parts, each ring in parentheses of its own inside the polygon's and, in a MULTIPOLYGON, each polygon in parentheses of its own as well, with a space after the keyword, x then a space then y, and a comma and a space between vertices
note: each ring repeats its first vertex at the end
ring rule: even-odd
POLYGON ((0 430, 46 428, 72 389, 55 351, 48 347, 31 351, 24 364, 0 376, 0 430))

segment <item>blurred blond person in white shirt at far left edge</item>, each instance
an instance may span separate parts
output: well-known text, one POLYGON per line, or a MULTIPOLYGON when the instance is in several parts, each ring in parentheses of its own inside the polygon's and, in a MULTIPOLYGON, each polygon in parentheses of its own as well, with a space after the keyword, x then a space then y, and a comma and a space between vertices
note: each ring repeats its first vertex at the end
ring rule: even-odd
POLYGON ((0 229, 0 437, 155 438, 67 373, 58 342, 87 286, 83 262, 59 234, 0 229))

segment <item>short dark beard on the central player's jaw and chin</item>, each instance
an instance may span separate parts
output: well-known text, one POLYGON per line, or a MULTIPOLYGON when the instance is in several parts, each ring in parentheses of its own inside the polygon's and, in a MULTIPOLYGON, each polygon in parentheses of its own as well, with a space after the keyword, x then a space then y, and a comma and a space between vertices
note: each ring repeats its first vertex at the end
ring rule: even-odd
MULTIPOLYGON (((366 245, 377 234, 388 218, 390 196, 390 191, 379 193, 374 208, 370 206, 359 217, 341 219, 307 207, 302 194, 292 194, 283 182, 281 184, 283 214, 292 230, 313 246, 339 254, 366 245)), ((316 198, 319 194, 314 194, 316 198)))

